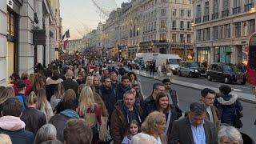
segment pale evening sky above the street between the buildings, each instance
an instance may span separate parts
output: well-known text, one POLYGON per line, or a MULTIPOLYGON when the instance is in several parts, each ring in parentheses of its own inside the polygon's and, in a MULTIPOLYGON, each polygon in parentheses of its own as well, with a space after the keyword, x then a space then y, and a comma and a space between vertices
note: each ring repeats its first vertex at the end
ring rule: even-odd
MULTIPOLYGON (((94 0, 104 10, 110 10, 117 6, 120 7, 122 2, 129 0, 94 0)), ((71 39, 82 38, 90 30, 95 29, 98 22, 104 22, 106 17, 100 17, 98 8, 94 6, 92 0, 60 0, 61 17, 63 33, 70 30, 71 39)))

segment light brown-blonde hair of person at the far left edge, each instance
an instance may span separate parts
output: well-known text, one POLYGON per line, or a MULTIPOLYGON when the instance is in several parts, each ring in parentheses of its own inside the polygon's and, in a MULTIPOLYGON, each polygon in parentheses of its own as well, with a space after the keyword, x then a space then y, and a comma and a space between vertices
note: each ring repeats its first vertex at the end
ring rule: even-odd
POLYGON ((4 90, 2 90, 2 94, 0 95, 0 111, 2 111, 2 103, 6 102, 8 98, 14 98, 14 97, 15 97, 15 91, 13 86, 7 86, 4 90))

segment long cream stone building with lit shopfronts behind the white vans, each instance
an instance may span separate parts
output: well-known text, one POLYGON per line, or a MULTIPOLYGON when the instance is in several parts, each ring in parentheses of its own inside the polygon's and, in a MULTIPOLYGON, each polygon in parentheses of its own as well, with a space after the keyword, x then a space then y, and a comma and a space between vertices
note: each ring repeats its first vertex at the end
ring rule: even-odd
POLYGON ((192 2, 189 0, 122 3, 103 25, 103 34, 109 36, 103 47, 109 49, 111 57, 135 58, 137 52, 157 52, 178 54, 192 60, 192 20, 192 2))

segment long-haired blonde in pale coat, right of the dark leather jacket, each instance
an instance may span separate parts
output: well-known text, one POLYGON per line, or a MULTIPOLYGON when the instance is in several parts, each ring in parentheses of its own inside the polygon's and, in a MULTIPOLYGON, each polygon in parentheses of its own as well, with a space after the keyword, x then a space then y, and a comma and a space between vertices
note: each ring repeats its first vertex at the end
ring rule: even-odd
POLYGON ((38 90, 38 110, 42 111, 46 115, 46 122, 50 121, 50 118, 54 116, 53 110, 50 106, 50 102, 46 98, 46 90, 38 90))

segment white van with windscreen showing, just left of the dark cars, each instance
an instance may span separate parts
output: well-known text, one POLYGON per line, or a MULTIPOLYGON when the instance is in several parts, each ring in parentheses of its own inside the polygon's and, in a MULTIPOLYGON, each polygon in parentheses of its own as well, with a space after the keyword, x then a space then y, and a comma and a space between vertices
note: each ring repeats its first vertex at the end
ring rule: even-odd
POLYGON ((177 74, 180 61, 181 58, 177 54, 158 54, 155 66, 158 67, 159 65, 162 66, 163 64, 166 64, 174 74, 177 74))

